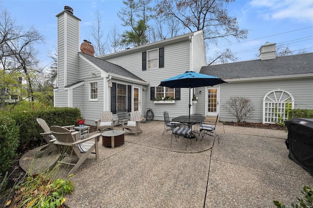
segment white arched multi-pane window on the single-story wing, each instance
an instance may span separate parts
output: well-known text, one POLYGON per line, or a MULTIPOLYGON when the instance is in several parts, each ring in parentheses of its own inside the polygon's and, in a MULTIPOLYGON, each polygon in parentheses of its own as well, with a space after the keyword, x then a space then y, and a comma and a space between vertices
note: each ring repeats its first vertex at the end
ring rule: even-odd
POLYGON ((294 108, 294 99, 290 92, 280 89, 268 92, 263 98, 263 124, 286 121, 288 108, 294 108))

